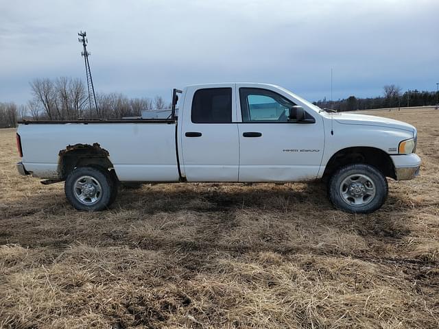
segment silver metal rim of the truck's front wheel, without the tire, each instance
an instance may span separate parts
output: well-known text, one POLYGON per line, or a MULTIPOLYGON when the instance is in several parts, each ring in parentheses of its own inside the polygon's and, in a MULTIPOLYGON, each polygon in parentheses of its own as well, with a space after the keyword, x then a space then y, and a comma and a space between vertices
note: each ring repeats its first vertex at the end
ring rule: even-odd
POLYGON ((375 183, 368 175, 348 175, 340 184, 340 196, 350 206, 365 206, 372 202, 376 194, 375 183))

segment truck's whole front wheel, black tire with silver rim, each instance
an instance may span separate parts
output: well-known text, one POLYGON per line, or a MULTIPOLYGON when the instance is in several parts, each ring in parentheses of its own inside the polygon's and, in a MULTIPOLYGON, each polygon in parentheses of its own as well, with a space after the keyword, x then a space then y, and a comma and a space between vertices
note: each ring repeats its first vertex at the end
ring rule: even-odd
POLYGON ((369 164, 348 164, 329 180, 329 199, 340 210, 368 214, 381 208, 388 196, 388 182, 369 164))

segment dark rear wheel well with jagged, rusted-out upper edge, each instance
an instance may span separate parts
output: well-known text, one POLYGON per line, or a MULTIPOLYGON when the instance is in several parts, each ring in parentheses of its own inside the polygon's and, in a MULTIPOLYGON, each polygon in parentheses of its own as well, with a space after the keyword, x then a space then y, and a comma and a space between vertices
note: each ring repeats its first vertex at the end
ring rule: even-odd
MULTIPOLYGON (((98 143, 93 145, 76 144, 69 145, 59 153, 58 173, 62 180, 77 167, 99 167, 110 170, 113 165, 108 158, 110 154, 98 143)), ((114 170, 112 174, 115 175, 114 170)))

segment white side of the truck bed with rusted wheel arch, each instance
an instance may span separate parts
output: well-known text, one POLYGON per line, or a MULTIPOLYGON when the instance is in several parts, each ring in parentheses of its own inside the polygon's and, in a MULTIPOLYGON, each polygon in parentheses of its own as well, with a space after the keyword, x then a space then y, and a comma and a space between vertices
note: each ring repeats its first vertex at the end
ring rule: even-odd
POLYGON ((18 134, 23 164, 36 177, 58 178, 63 151, 97 143, 121 182, 179 179, 174 120, 21 121, 18 134))

